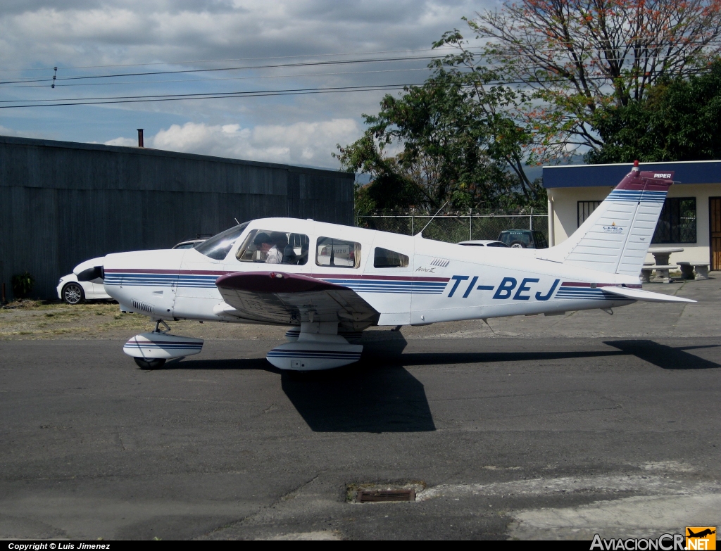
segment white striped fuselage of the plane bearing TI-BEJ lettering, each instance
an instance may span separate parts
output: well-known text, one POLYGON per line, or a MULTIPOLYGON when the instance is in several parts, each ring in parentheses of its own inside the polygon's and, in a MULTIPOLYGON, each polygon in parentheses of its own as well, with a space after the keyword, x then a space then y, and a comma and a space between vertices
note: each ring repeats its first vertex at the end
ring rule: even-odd
POLYGON ((224 259, 195 249, 108 255, 105 290, 124 310, 154 319, 252 323, 229 313, 216 279, 239 272, 301 274, 354 290, 379 312, 378 325, 398 326, 615 308, 632 301, 604 293, 604 286, 640 287, 638 277, 536 259, 537 252, 270 218, 249 223, 224 259), (305 264, 239 261, 244 236, 267 228, 307 237, 305 264), (355 243, 354 256, 360 258, 353 258, 353 266, 325 264, 318 250, 323 238, 355 243), (374 266, 379 247, 407 256, 407 265, 374 266))

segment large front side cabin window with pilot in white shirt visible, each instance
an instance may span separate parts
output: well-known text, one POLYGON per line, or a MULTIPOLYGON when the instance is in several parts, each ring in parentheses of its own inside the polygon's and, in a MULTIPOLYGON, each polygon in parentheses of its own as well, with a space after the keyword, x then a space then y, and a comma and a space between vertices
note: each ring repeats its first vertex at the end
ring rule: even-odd
POLYGON ((252 230, 236 258, 241 262, 302 266, 308 261, 309 243, 308 236, 302 233, 252 230))

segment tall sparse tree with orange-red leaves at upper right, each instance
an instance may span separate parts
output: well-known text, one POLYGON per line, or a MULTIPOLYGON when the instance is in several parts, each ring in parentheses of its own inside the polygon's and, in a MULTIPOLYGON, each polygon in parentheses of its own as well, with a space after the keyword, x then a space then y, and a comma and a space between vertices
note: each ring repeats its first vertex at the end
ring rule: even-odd
POLYGON ((596 151, 599 108, 645 98, 662 79, 707 70, 721 51, 721 0, 520 0, 466 19, 482 55, 458 30, 443 62, 492 66, 505 84, 533 91, 526 122, 536 133, 532 161, 596 151))

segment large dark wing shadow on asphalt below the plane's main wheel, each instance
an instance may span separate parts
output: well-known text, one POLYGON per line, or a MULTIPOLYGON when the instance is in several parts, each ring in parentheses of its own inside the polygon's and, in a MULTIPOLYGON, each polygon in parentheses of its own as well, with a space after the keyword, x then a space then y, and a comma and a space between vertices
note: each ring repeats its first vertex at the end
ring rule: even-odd
POLYGON ((406 344, 394 333, 382 343, 368 343, 357 364, 283 372, 283 391, 313 431, 435 431, 423 384, 394 361, 406 344))

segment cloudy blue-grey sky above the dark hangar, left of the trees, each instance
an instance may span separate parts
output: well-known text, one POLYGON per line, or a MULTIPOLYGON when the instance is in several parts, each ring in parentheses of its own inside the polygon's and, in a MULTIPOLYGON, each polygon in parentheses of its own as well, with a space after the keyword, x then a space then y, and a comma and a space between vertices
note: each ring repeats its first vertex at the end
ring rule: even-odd
MULTIPOLYGON (((492 0, 3 0, 0 107, 420 83, 428 76, 433 40, 454 27, 465 30, 461 17, 493 5, 492 0), (367 61, 379 59, 386 61, 367 61), (338 63, 359 60, 365 62, 338 63)), ((0 108, 0 135, 136 145, 136 128, 143 127, 149 147, 337 168, 331 156, 335 144, 361 135, 361 113, 377 112, 385 93, 0 108)))

